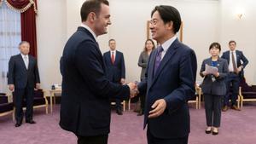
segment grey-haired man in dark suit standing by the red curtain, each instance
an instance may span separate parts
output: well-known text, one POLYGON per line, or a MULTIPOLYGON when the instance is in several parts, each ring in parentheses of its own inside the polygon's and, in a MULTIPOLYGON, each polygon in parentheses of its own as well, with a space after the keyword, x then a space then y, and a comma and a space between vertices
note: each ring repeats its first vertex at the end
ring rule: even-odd
POLYGON ((26 99, 26 123, 35 124, 33 121, 34 88, 39 88, 40 78, 37 60, 28 55, 30 45, 26 41, 19 44, 20 54, 14 55, 9 60, 8 84, 13 91, 15 102, 15 127, 22 124, 22 103, 26 99))

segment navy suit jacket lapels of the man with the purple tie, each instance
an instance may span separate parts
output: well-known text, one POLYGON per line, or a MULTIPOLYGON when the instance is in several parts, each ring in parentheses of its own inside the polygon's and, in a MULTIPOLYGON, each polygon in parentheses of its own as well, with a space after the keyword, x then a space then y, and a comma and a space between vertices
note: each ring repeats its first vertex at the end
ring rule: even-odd
MULTIPOLYGON (((166 55, 164 56, 164 58, 161 60, 160 62, 160 66, 158 67, 158 70, 156 71, 156 73, 154 74, 153 77, 153 82, 152 85, 154 84, 154 82, 156 81, 156 79, 159 77, 160 72, 163 70, 163 68, 166 66, 166 64, 168 63, 168 61, 172 58, 172 55, 175 54, 176 50, 177 50, 177 44, 179 42, 177 41, 177 39, 172 43, 172 45, 168 48, 168 50, 166 51, 166 55)), ((156 55, 154 56, 154 60, 156 58, 156 55)), ((154 67, 154 64, 153 64, 154 67)), ((154 70, 154 69, 153 69, 154 70)))

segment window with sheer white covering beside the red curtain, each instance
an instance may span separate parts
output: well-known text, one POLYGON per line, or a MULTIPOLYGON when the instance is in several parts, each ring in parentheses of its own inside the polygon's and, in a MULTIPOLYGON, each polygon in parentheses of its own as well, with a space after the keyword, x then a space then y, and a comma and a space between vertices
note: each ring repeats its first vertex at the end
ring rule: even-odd
POLYGON ((11 55, 20 53, 20 13, 9 9, 5 3, 0 7, 0 92, 7 93, 8 63, 11 55))

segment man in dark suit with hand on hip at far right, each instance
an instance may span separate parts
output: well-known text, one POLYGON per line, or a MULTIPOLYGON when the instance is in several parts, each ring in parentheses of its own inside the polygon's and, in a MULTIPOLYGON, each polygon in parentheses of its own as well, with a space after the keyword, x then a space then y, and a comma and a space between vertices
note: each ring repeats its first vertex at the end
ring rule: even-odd
POLYGON ((231 99, 230 107, 236 111, 240 111, 240 108, 236 107, 236 100, 239 91, 240 79, 243 78, 243 69, 247 66, 248 60, 242 54, 240 50, 236 50, 236 41, 231 40, 229 42, 230 50, 225 51, 221 58, 228 61, 229 74, 226 78, 227 95, 224 96, 223 111, 228 110, 229 100, 231 99), (232 85, 232 86, 231 86, 232 85), (230 86, 232 88, 232 94, 230 95, 230 86), (231 96, 231 97, 230 97, 231 96))

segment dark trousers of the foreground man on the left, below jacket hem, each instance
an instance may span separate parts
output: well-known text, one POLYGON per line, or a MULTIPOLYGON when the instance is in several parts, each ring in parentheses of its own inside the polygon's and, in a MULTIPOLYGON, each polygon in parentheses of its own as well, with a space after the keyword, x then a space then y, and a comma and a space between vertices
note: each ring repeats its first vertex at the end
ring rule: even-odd
POLYGON ((78 144, 108 144, 108 135, 78 136, 78 144))

